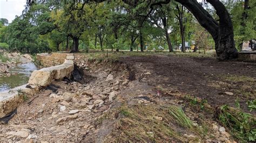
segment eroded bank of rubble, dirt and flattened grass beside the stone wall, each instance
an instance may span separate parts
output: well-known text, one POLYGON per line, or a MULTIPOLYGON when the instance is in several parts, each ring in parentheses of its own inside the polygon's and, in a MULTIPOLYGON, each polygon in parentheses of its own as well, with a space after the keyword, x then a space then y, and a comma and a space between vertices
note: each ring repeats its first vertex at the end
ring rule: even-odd
POLYGON ((216 122, 215 107, 234 105, 239 96, 248 111, 245 102, 255 98, 255 63, 177 56, 87 61, 83 54, 76 63, 82 83, 55 81, 26 99, 0 125, 1 142, 231 142, 237 139, 216 122))

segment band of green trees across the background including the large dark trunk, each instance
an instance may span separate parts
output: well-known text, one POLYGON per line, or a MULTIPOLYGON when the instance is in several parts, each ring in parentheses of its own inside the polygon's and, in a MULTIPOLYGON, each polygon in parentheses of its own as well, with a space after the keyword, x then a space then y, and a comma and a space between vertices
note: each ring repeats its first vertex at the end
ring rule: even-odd
POLYGON ((237 57, 241 42, 255 38, 255 2, 250 1, 246 10, 243 4, 213 0, 28 0, 22 16, 9 25, 8 20, 0 20, 5 27, 0 38, 10 50, 30 53, 158 47, 185 52, 186 42, 199 49, 215 48, 217 58, 226 60, 237 57))

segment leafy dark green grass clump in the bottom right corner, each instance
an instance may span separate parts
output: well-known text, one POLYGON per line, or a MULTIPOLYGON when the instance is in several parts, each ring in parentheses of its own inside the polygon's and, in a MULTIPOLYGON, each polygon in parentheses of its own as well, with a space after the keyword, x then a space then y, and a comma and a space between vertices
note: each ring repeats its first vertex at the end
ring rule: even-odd
POLYGON ((218 109, 218 119, 230 128, 233 137, 240 141, 256 141, 256 120, 250 113, 223 105, 218 109))

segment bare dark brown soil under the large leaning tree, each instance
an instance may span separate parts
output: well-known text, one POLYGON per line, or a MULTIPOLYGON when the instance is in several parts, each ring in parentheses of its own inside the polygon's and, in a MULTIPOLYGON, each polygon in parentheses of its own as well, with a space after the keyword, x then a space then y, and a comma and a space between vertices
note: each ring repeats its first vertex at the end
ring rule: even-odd
POLYGON ((138 78, 145 77, 141 82, 163 88, 177 90, 202 99, 206 99, 212 106, 223 104, 234 105, 237 96, 241 100, 241 108, 247 111, 246 100, 256 97, 256 63, 225 61, 219 62, 209 58, 177 58, 177 56, 141 56, 124 57, 124 63, 129 63, 137 70, 138 78), (143 71, 151 74, 145 75, 143 71), (225 77, 247 76, 252 81, 230 81, 225 77), (216 88, 213 84, 223 86, 216 88), (225 84, 226 83, 226 84, 225 84), (249 87, 243 87, 248 84, 249 87), (212 85, 212 86, 211 86, 212 85), (227 86, 229 85, 229 86, 227 86), (246 88, 250 96, 245 97, 237 89, 246 88), (233 92, 233 96, 224 92, 233 92))

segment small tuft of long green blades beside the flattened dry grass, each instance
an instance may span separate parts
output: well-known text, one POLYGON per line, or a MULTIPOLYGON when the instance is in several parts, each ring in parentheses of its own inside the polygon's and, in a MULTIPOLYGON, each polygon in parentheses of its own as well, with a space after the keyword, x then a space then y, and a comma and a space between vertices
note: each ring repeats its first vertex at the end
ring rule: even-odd
POLYGON ((172 105, 169 109, 170 115, 175 118, 178 124, 183 127, 192 128, 192 121, 185 115, 184 111, 180 107, 172 105))

